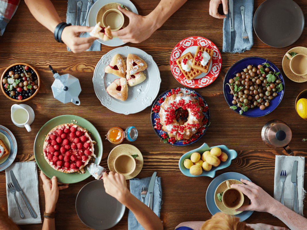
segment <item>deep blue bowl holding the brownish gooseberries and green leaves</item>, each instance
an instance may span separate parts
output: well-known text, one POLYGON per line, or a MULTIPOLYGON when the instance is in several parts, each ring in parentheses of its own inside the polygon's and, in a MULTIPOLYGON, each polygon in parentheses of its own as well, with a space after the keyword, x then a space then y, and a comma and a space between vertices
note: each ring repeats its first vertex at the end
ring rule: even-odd
MULTIPOLYGON (((260 57, 243 58, 243 59, 237 61, 236 63, 234 63, 229 68, 229 70, 227 71, 227 73, 225 75, 224 83, 223 83, 224 84, 223 85, 224 97, 225 97, 226 102, 228 103, 229 106, 233 105, 232 104, 233 95, 229 93, 230 92, 229 86, 226 85, 226 83, 229 82, 229 79, 233 78, 236 73, 242 72, 242 70, 244 68, 246 68, 248 65, 252 65, 252 66, 257 67, 258 65, 262 65, 265 62, 269 63, 271 65, 271 67, 270 67, 271 70, 272 70, 272 67, 273 67, 276 72, 280 72, 278 70, 278 68, 273 63, 271 63, 267 59, 260 58, 260 57)), ((268 107, 266 107, 264 110, 259 109, 259 107, 255 107, 254 109, 248 109, 246 112, 243 112, 242 116, 245 116, 245 117, 262 117, 262 116, 269 114, 274 109, 276 109, 276 107, 282 101, 282 97, 284 96, 284 92, 285 92, 285 82, 284 82, 284 79, 282 77, 282 74, 279 74, 278 76, 279 76, 279 78, 282 82, 283 90, 281 92, 277 93, 278 95, 270 101, 270 105, 268 107)), ((240 110, 241 110, 240 108, 236 109, 235 112, 240 114, 239 113, 240 110)))

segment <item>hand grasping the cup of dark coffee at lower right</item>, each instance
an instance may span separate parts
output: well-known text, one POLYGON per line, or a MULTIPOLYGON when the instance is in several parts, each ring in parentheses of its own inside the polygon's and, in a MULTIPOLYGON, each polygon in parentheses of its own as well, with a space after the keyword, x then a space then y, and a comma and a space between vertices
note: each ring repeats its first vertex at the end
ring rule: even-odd
POLYGON ((242 205, 236 211, 258 211, 258 212, 269 212, 270 208, 273 207, 276 201, 273 197, 267 194, 262 188, 255 185, 253 182, 241 179, 244 184, 232 184, 230 187, 240 190, 243 194, 247 195, 251 199, 250 205, 242 205))

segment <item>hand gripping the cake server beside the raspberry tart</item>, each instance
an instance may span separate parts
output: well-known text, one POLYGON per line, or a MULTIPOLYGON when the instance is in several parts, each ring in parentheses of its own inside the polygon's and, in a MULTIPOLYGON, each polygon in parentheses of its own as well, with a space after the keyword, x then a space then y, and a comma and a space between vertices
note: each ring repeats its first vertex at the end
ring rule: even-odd
POLYGON ((125 176, 119 173, 109 172, 109 175, 106 172, 103 173, 103 185, 106 193, 115 197, 121 203, 129 192, 125 176))

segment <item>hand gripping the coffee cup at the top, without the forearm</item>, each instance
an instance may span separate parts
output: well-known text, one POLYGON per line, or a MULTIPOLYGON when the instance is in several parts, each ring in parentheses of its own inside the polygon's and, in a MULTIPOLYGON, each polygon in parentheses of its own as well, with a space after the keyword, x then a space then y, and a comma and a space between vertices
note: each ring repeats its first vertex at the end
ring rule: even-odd
POLYGON ((149 15, 141 16, 120 6, 117 8, 129 17, 129 25, 127 27, 112 32, 113 36, 118 36, 123 42, 140 43, 149 38, 158 29, 155 20, 151 19, 149 15))

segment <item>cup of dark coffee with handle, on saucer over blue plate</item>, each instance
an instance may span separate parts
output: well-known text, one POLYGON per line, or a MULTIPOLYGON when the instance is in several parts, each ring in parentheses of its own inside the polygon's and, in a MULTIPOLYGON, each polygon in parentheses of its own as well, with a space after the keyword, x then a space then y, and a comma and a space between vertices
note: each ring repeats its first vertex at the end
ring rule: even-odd
POLYGON ((244 195, 241 191, 231 188, 226 181, 227 189, 223 192, 222 201, 228 209, 238 209, 243 205, 244 195))

